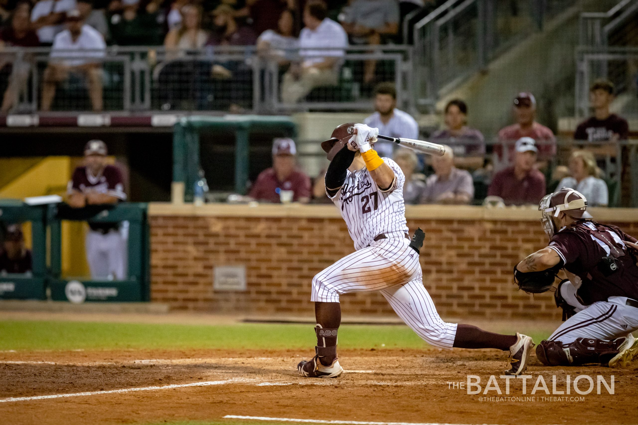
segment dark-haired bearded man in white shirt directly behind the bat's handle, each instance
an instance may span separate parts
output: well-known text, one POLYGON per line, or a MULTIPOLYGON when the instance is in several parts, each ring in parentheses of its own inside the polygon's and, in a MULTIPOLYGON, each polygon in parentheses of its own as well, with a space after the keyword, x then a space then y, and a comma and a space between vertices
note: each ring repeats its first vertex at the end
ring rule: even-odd
MULTIPOLYGON (((407 112, 396 108, 397 90, 394 83, 380 83, 375 89, 375 113, 364 120, 364 124, 377 127, 379 134, 389 137, 419 138, 419 124, 407 112)), ((394 143, 377 141, 375 150, 382 157, 392 157, 394 143)))

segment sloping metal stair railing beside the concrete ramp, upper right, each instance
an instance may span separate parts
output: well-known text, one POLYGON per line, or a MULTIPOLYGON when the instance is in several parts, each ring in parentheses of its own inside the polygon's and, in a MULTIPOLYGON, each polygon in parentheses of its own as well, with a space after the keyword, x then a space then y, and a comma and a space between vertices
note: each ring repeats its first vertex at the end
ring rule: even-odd
POLYGON ((449 0, 413 27, 417 104, 458 83, 578 0, 449 0))

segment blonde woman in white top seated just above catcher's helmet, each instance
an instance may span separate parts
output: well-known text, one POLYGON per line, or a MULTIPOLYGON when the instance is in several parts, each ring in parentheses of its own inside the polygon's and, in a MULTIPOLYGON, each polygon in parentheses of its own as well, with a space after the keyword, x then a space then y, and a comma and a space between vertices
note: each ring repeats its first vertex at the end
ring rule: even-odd
POLYGON ((591 152, 575 150, 569 159, 569 171, 571 176, 563 178, 556 186, 556 191, 561 187, 571 187, 587 198, 588 206, 609 205, 607 184, 598 178, 600 170, 591 152))

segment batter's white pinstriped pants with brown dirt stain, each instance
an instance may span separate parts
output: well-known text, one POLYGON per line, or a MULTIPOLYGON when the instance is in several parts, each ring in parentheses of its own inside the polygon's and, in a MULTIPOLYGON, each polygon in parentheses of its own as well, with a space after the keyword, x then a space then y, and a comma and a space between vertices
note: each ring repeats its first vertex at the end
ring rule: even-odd
POLYGON ((456 324, 446 323, 422 282, 419 254, 401 234, 343 257, 313 278, 311 301, 338 303, 340 294, 381 291, 394 312, 423 340, 452 349, 456 324))

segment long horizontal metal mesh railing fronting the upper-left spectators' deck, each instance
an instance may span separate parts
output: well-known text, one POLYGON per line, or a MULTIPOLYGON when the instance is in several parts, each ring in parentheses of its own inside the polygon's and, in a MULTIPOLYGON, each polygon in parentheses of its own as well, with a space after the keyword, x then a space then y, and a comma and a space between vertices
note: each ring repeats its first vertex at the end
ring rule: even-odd
MULTIPOLYGON (((334 54, 334 48, 313 50, 334 54)), ((50 53, 49 48, 0 51, 0 86, 8 88, 4 112, 369 110, 373 87, 363 81, 366 62, 375 62, 376 81, 396 82, 399 107, 413 110, 407 46, 348 47, 335 57, 330 78, 319 82, 292 72, 307 59, 299 49, 275 54, 252 46, 108 47, 84 55, 57 50, 55 58, 50 53), (307 92, 282 98, 291 81, 306 84, 307 92)))

